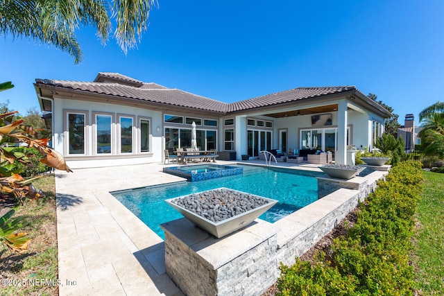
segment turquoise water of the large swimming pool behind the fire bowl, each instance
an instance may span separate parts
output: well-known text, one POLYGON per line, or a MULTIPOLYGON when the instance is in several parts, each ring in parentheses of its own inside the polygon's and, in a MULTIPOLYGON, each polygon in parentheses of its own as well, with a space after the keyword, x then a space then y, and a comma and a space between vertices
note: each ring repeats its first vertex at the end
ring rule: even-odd
POLYGON ((316 176, 322 173, 241 164, 236 166, 243 168, 244 173, 199 182, 184 181, 114 191, 112 195, 162 238, 164 233, 160 224, 182 218, 178 211, 164 202, 167 198, 219 187, 244 191, 279 200, 278 204, 259 217, 271 223, 318 200, 316 176))

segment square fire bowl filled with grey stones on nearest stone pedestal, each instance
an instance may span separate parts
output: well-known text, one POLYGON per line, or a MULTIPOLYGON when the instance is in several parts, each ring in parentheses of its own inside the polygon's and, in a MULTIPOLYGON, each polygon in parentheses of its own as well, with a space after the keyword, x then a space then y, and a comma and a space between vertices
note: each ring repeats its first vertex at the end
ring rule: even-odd
POLYGON ((278 200, 221 187, 165 202, 196 226, 221 238, 246 227, 278 200))

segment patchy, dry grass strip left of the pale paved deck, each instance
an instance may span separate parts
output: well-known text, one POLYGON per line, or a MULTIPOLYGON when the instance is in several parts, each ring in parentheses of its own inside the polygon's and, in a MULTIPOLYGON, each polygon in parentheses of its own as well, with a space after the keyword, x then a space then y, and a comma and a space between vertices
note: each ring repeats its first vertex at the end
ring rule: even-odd
POLYGON ((58 295, 56 196, 54 175, 44 175, 33 182, 46 197, 26 200, 15 208, 14 217, 24 216, 29 223, 22 230, 31 238, 24 254, 11 253, 0 245, 1 295, 58 295), (22 286, 19 286, 22 284, 22 286))

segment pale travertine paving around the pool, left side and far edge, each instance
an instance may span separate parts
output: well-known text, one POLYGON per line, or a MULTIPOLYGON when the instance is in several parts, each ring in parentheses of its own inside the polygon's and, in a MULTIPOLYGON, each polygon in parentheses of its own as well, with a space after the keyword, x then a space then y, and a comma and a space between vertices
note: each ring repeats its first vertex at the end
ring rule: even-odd
MULTIPOLYGON (((321 171, 314 164, 279 166, 321 171)), ((184 180, 163 167, 56 172, 60 295, 182 295, 165 273, 162 238, 109 193, 184 180)))

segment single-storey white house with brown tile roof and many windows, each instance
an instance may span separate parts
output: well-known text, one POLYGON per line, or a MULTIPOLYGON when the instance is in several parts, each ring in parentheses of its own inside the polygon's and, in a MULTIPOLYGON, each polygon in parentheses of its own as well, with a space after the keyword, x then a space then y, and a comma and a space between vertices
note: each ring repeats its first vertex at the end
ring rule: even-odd
POLYGON ((163 161, 163 150, 200 150, 258 157, 261 150, 330 150, 345 164, 347 146, 373 148, 391 113, 354 86, 298 87, 223 103, 98 73, 92 82, 36 79, 35 91, 53 127, 52 144, 71 168, 163 161))

